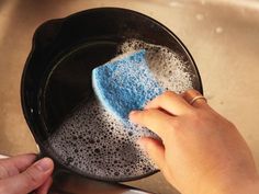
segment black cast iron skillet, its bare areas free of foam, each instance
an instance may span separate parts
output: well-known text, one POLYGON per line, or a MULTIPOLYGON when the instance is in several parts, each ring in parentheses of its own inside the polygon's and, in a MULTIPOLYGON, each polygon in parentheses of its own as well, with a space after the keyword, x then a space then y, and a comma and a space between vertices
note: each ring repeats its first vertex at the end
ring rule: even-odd
MULTIPOLYGON (((194 89, 202 93, 201 78, 188 49, 172 32, 149 16, 121 8, 99 8, 47 21, 34 34, 21 83, 23 113, 42 156, 71 170, 63 164, 46 139, 79 103, 93 95, 91 70, 115 57, 117 45, 128 38, 167 46, 182 55, 194 75, 194 89)), ((91 178, 132 181, 151 173, 124 180, 91 178)))

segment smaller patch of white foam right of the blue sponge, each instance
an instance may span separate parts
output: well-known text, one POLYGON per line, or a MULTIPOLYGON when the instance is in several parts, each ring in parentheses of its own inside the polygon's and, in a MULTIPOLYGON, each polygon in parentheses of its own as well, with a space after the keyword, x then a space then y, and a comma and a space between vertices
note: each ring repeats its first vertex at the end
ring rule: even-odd
POLYGON ((188 68, 190 67, 187 61, 173 50, 139 39, 128 39, 119 47, 119 50, 123 54, 138 49, 147 50, 146 57, 149 69, 162 88, 177 93, 193 88, 192 79, 194 75, 189 72, 188 68))

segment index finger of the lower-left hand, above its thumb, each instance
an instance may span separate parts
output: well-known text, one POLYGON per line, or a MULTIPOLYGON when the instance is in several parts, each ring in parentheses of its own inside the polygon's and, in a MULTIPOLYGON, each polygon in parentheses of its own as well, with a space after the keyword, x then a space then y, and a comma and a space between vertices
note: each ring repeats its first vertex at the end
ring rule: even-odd
POLYGON ((16 175, 27 169, 36 159, 36 155, 27 153, 0 160, 0 178, 16 175))

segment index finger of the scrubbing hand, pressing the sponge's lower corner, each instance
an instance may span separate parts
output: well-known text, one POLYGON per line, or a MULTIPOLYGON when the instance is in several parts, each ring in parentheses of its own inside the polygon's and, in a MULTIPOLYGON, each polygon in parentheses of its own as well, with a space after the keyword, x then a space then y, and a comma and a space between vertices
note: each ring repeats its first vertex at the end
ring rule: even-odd
POLYGON ((159 110, 133 111, 130 113, 130 119, 140 126, 145 126, 160 136, 164 140, 171 129, 172 116, 159 110))

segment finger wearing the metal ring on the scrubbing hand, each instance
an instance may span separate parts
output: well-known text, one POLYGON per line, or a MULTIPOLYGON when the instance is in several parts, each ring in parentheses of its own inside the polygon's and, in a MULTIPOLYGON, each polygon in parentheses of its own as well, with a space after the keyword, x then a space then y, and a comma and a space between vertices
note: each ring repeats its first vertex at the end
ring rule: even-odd
MULTIPOLYGON (((203 96, 199 91, 196 90, 188 90, 185 92, 183 92, 181 94, 181 96, 188 102, 188 103, 191 103, 193 101, 194 98, 196 96, 203 96)), ((207 107, 207 103, 206 103, 206 100, 201 98, 201 99, 198 99, 195 100, 193 103, 192 103, 192 106, 194 107, 207 107)))

